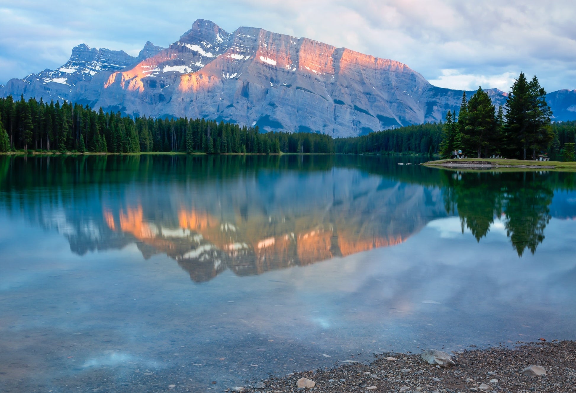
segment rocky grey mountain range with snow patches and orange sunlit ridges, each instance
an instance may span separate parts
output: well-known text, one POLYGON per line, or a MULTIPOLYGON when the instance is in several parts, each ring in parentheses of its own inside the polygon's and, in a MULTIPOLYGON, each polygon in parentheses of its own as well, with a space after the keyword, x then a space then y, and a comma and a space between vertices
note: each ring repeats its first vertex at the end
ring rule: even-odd
MULTIPOLYGON (((487 92, 496 105, 506 100, 501 90, 487 92)), ((132 57, 81 44, 62 67, 0 85, 2 97, 335 137, 440 121, 462 93, 432 86, 398 61, 258 28, 228 33, 205 20, 168 48, 147 42, 132 57)), ((576 120, 576 90, 547 98, 554 120, 576 120)))

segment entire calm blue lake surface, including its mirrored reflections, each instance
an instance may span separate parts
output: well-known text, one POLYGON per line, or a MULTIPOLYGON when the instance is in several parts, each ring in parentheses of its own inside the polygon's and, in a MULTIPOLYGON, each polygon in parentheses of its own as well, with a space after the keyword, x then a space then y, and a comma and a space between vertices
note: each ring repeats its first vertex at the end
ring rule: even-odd
POLYGON ((574 340, 576 176, 402 161, 0 157, 0 390, 574 340))

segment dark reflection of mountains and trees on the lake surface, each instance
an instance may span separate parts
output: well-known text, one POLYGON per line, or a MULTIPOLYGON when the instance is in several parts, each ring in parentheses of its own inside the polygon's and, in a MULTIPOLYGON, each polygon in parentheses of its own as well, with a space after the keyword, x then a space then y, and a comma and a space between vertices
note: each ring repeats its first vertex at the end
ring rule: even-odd
POLYGON ((146 259, 175 259, 194 282, 395 245, 454 214, 478 241, 499 220, 518 256, 535 253, 555 190, 575 188, 573 174, 358 156, 2 157, 0 184, 6 209, 55 228, 73 252, 135 243, 146 259))

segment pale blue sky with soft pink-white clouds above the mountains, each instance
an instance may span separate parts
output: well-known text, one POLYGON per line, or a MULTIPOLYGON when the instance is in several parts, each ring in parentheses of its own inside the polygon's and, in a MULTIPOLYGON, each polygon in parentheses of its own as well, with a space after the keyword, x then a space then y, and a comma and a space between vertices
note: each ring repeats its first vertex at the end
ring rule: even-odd
POLYGON ((573 0, 0 0, 0 83, 57 68, 81 43, 166 47, 198 18, 401 61, 440 87, 510 91, 523 71, 548 92, 576 89, 573 0))

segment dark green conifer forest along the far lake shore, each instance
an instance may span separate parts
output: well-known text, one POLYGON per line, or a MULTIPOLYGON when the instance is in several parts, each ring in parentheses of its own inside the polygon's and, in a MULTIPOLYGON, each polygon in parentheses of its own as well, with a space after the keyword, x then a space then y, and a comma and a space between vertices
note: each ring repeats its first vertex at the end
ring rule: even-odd
POLYGON ((77 103, 0 98, 0 152, 78 153, 345 153, 450 158, 504 156, 573 161, 576 121, 550 121, 536 76, 520 74, 498 110, 479 88, 445 122, 409 125, 358 137, 260 132, 257 125, 206 119, 129 117, 77 103))

